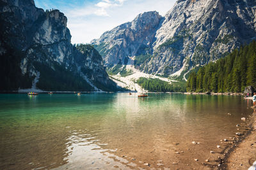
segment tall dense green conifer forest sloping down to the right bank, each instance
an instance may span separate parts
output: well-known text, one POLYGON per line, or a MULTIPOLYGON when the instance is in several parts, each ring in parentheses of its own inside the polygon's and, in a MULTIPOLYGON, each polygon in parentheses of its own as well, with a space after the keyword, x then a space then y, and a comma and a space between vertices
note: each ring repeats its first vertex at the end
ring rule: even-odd
POLYGON ((186 83, 188 92, 243 92, 249 85, 256 87, 256 41, 192 71, 186 83))

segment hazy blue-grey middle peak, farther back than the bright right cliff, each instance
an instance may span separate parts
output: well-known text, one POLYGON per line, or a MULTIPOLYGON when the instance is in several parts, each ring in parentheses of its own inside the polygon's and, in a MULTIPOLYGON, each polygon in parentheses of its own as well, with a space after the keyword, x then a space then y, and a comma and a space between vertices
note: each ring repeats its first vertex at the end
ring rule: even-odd
POLYGON ((157 26, 162 17, 156 11, 138 15, 132 22, 107 31, 92 44, 104 55, 106 66, 129 64, 134 55, 151 53, 157 26))

